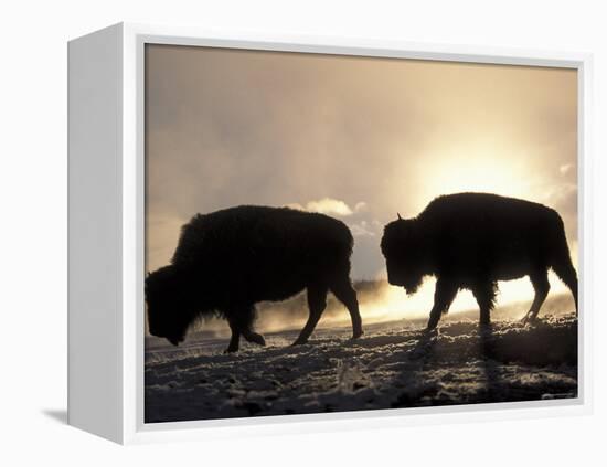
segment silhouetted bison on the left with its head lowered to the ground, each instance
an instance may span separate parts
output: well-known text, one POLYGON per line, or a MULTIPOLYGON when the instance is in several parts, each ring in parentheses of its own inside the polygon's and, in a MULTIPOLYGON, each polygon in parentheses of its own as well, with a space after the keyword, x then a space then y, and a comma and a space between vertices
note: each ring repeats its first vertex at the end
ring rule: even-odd
POLYGON ((306 343, 331 290, 362 333, 356 293, 350 282, 352 234, 342 222, 288 208, 238 206, 198 214, 181 230, 169 266, 148 275, 149 330, 181 342, 199 317, 227 319, 238 350, 241 335, 264 346, 253 331, 255 304, 285 300, 307 289, 310 315, 296 344, 306 343))

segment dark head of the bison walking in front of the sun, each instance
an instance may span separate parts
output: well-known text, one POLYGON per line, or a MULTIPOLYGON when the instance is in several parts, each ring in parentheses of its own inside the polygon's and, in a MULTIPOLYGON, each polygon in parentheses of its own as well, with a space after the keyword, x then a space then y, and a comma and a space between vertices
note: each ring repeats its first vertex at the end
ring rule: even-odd
POLYGON ((387 282, 415 294, 426 274, 426 248, 415 220, 401 219, 384 227, 382 253, 386 259, 387 282))

